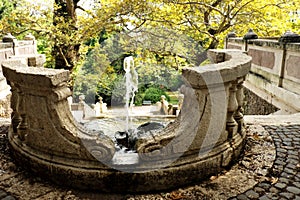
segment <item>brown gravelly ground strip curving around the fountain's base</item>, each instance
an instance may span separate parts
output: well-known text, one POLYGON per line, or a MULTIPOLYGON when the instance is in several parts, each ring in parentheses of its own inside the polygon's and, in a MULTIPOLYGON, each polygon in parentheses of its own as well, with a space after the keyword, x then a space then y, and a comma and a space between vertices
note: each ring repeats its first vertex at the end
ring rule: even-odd
POLYGON ((240 160, 230 169, 198 184, 154 194, 103 194, 79 191, 53 185, 16 166, 10 157, 7 130, 8 121, 0 125, 0 199, 228 199, 252 188, 262 181, 272 183, 269 169, 275 159, 272 138, 262 126, 247 127, 247 142, 240 160))

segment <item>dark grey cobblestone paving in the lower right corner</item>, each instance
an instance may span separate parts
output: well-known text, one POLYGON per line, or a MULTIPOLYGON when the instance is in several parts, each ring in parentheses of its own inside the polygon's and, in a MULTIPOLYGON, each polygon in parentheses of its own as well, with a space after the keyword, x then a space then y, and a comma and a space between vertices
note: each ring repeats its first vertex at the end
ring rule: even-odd
POLYGON ((231 199, 300 200, 300 125, 264 126, 276 147, 276 159, 269 176, 273 182, 261 182, 231 199))

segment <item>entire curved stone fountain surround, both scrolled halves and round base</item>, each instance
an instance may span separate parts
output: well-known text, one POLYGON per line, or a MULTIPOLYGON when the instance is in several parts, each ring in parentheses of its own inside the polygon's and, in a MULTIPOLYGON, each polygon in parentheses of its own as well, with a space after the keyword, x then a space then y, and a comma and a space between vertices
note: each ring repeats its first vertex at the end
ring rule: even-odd
POLYGON ((209 56, 215 64, 183 70, 185 98, 177 120, 139 138, 136 152, 128 153, 74 120, 68 71, 4 62, 16 160, 58 184, 106 192, 164 190, 220 172, 243 147, 242 83, 251 58, 230 50, 209 56))

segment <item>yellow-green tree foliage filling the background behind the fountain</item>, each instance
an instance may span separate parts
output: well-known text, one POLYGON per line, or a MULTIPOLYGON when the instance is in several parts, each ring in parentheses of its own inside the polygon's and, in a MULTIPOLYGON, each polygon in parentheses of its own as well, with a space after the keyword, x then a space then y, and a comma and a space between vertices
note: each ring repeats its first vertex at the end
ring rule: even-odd
POLYGON ((222 47, 229 31, 243 36, 252 28, 266 37, 299 33, 300 26, 299 1, 103 0, 77 15, 79 0, 55 2, 0 1, 1 34, 20 39, 32 32, 47 67, 71 70, 75 97, 85 94, 90 103, 98 95, 107 103, 124 102, 128 55, 135 57, 140 104, 148 87, 177 90, 182 68, 205 61, 205 51, 222 47))

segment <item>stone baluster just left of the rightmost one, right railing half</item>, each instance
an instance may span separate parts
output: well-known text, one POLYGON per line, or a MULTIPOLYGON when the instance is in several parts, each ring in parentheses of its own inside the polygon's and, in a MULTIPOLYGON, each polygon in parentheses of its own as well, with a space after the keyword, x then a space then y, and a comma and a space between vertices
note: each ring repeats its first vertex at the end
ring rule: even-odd
POLYGON ((237 123, 233 117, 234 113, 238 108, 238 103, 236 99, 237 83, 232 82, 229 87, 229 98, 228 98, 228 108, 227 108, 227 120, 226 120, 226 130, 228 131, 228 139, 231 139, 237 131, 237 123))

